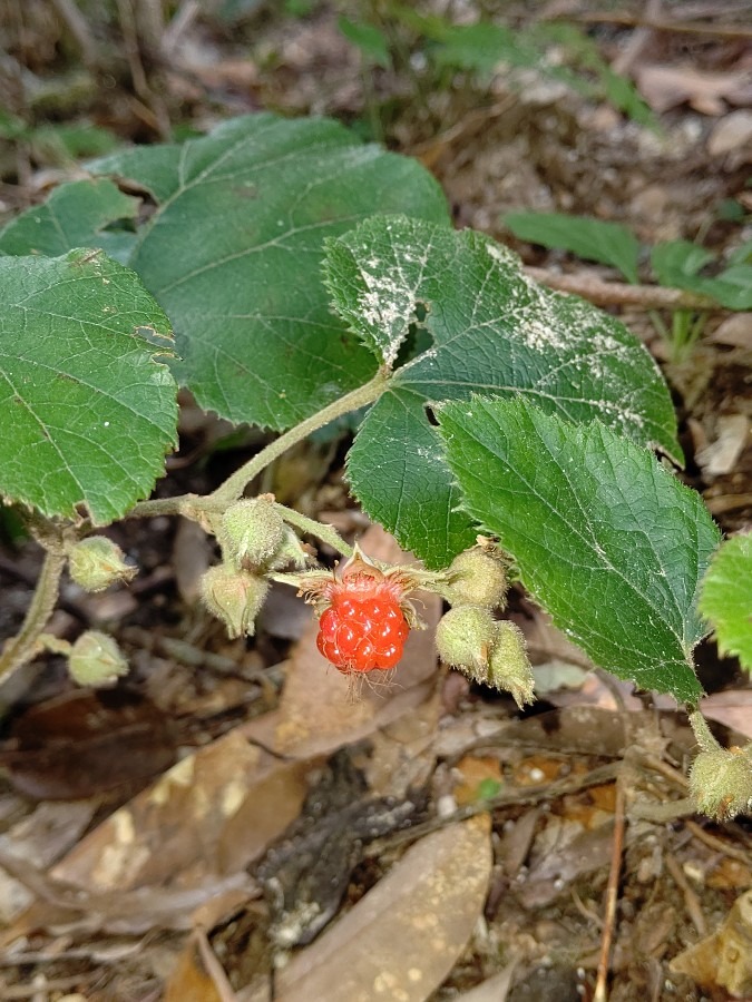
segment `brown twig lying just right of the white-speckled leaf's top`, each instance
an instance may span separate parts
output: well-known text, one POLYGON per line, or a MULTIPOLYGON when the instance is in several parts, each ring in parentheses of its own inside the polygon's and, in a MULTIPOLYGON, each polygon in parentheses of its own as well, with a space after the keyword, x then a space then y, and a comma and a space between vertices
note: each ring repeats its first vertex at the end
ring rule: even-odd
POLYGON ((661 285, 627 285, 603 282, 589 274, 560 275, 547 268, 526 267, 525 274, 557 292, 574 293, 596 306, 637 306, 641 310, 720 310, 710 296, 664 288, 661 285))

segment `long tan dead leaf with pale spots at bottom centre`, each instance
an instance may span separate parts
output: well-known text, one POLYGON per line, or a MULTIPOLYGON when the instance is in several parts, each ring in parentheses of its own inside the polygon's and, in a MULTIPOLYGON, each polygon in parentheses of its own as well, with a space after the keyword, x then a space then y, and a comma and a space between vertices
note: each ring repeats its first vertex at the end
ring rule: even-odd
POLYGON ((486 900, 487 815, 421 838, 276 979, 277 1002, 422 1002, 451 971, 486 900))

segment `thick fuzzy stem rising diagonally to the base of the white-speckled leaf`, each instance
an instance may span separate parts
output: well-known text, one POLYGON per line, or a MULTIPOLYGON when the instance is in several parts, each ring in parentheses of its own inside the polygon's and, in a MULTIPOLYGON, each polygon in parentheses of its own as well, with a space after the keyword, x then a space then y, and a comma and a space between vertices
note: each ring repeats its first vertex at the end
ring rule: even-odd
MULTIPOLYGON (((247 463, 244 463, 240 470, 236 470, 211 494, 207 494, 206 497, 201 497, 199 494, 180 494, 178 498, 159 498, 154 501, 140 501, 128 512, 127 518, 146 519, 160 514, 182 514, 194 521, 201 521, 201 514, 203 512, 224 511, 228 504, 232 504, 233 501, 236 501, 243 494, 246 485, 254 477, 257 477, 270 465, 270 463, 273 463, 275 459, 279 459, 285 453, 287 449, 291 449, 297 442, 302 442, 303 439, 306 439, 312 432, 318 431, 336 418, 341 418, 343 414, 349 414, 351 411, 364 407, 367 404, 378 400, 387 389, 390 375, 391 373, 389 371, 380 369, 373 379, 363 386, 359 386, 357 390, 346 393, 344 396, 339 397, 339 400, 328 404, 323 410, 312 414, 311 418, 301 421, 300 424, 296 424, 294 428, 291 428, 290 431, 284 432, 279 439, 270 442, 268 445, 262 449, 261 452, 257 452, 247 463)), ((285 515, 285 518, 287 518, 287 515, 285 515)), ((289 519, 289 521, 292 521, 292 519, 289 519)), ((309 528, 306 528, 305 531, 313 534, 314 530, 311 527, 314 524, 319 527, 315 530, 315 534, 328 542, 329 540, 321 534, 321 527, 318 522, 311 520, 309 528)), ((332 529, 331 532, 333 531, 334 530, 332 529)), ((340 540, 340 542, 342 542, 342 540, 340 540)), ((338 549, 340 548, 340 542, 335 543, 338 549)))

